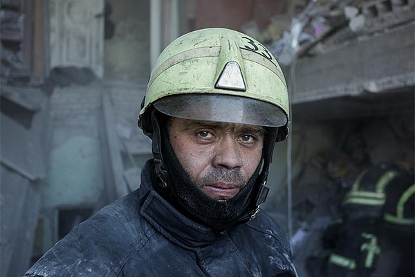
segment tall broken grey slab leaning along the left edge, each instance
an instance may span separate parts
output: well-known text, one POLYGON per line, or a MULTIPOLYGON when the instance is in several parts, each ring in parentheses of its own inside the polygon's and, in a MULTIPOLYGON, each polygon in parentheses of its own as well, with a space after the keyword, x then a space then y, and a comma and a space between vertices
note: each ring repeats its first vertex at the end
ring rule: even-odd
POLYGON ((48 99, 26 86, 1 87, 0 267, 8 277, 30 265, 49 147, 48 99))

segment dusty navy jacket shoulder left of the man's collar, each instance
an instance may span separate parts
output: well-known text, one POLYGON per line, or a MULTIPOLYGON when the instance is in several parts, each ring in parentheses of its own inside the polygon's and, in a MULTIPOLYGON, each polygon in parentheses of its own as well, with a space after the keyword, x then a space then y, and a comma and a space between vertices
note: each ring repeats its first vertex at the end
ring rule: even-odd
POLYGON ((57 242, 25 276, 117 276, 154 232, 139 209, 137 192, 105 206, 57 242))

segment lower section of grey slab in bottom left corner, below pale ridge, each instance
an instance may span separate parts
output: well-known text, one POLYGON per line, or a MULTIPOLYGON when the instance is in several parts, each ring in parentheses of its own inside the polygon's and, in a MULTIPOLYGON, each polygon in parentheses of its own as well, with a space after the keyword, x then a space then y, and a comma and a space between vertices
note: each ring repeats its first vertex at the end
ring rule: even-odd
POLYGON ((3 165, 0 169, 0 267, 2 276, 17 277, 30 266, 42 184, 33 184, 3 165))

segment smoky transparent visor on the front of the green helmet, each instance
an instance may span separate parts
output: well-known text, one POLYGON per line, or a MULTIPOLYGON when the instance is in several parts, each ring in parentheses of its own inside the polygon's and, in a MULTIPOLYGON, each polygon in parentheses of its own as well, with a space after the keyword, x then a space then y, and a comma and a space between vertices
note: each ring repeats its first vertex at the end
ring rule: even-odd
POLYGON ((180 94, 154 102, 154 107, 168 116, 192 120, 241 123, 280 127, 287 123, 279 107, 252 98, 222 94, 180 94))

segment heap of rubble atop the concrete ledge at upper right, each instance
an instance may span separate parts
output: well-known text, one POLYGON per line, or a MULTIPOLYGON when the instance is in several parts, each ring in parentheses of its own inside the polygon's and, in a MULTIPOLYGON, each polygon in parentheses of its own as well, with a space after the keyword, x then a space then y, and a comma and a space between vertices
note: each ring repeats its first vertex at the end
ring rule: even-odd
POLYGON ((324 48, 331 48, 333 45, 342 44, 357 37, 384 32, 415 19, 414 1, 333 0, 323 2, 310 1, 308 10, 304 9, 301 15, 291 21, 291 24, 285 22, 286 15, 276 16, 270 26, 257 37, 268 42, 277 60, 284 64, 286 60, 284 51, 289 51, 287 45, 291 45, 290 39, 297 32, 294 29, 295 21, 302 26, 297 37, 302 37, 304 34, 311 36, 310 39, 299 41, 297 56, 302 57, 308 54, 318 55, 327 51, 323 50, 324 48), (278 17, 280 19, 277 19, 278 17))

